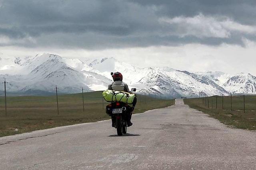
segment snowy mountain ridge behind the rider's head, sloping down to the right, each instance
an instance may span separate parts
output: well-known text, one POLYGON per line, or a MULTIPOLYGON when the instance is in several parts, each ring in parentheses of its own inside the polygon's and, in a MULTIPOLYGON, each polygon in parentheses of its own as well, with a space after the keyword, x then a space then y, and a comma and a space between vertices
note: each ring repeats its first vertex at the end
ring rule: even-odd
POLYGON ((124 77, 123 81, 138 88, 141 93, 173 97, 198 96, 200 91, 204 91, 209 96, 228 94, 226 90, 211 80, 203 80, 202 76, 196 77, 195 74, 192 76, 191 73, 169 67, 140 68, 114 58, 95 60, 89 66, 109 78, 111 78, 110 72, 121 72, 124 77))

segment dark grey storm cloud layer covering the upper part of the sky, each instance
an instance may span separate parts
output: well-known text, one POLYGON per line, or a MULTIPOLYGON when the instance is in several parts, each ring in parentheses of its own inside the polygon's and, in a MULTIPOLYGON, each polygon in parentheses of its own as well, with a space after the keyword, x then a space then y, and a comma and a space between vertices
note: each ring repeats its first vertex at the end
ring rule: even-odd
POLYGON ((104 49, 255 41, 252 0, 0 0, 0 45, 104 49))

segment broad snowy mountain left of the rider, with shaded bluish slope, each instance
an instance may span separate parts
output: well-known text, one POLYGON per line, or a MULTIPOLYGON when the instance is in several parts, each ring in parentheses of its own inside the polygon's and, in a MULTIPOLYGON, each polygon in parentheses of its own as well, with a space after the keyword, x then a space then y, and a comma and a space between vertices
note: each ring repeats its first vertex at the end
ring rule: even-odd
MULTIPOLYGON (((28 90, 42 90, 54 92, 58 85, 62 93, 105 90, 111 80, 94 72, 80 70, 85 64, 78 59, 65 59, 58 55, 37 55, 21 64, 23 74, 0 75, 10 82, 9 90, 26 92, 28 90), (27 74, 25 74, 27 73, 27 74)), ((2 72, 0 72, 2 73, 2 72)))

